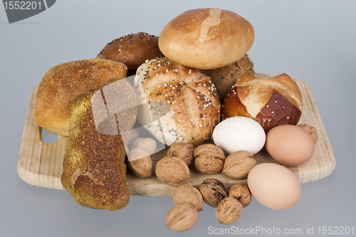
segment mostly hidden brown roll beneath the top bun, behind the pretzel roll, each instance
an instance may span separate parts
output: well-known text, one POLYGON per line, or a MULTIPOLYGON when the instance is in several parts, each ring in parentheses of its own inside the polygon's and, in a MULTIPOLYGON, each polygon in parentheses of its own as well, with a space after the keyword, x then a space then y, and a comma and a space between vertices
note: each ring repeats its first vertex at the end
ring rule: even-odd
POLYGON ((231 63, 222 68, 216 68, 211 70, 201 70, 201 73, 207 75, 213 81, 216 86, 216 90, 219 93, 219 99, 224 100, 226 94, 231 90, 232 86, 236 83, 241 75, 245 73, 250 73, 250 75, 255 75, 255 70, 253 70, 253 63, 248 55, 245 54, 240 60, 235 63, 231 63))

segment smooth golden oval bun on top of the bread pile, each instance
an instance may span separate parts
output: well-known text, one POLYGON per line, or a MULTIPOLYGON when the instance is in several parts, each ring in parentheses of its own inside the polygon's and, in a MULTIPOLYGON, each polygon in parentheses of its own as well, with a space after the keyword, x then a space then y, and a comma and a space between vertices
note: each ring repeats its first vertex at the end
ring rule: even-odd
POLYGON ((240 60, 254 38, 251 23, 232 11, 194 9, 164 26, 158 46, 174 62, 214 69, 240 60))

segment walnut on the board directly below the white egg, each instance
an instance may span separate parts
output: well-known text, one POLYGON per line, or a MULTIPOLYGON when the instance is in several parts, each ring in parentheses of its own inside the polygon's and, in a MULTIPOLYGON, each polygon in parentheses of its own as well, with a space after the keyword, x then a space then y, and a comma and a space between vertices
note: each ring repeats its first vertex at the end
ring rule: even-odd
POLYGON ((244 179, 255 165, 255 157, 250 152, 241 150, 226 157, 224 169, 221 173, 226 174, 231 179, 244 179))

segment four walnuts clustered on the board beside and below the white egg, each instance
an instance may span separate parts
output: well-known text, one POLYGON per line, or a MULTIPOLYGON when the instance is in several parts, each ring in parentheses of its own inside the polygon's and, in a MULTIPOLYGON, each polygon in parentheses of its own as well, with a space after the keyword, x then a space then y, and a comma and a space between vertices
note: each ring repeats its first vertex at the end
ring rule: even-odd
POLYGON ((256 159, 247 151, 225 157, 224 151, 214 144, 201 144, 194 149, 192 144, 179 142, 169 147, 167 157, 157 162, 155 173, 164 184, 178 186, 189 179, 192 164, 204 174, 221 172, 231 179, 245 179, 256 159))

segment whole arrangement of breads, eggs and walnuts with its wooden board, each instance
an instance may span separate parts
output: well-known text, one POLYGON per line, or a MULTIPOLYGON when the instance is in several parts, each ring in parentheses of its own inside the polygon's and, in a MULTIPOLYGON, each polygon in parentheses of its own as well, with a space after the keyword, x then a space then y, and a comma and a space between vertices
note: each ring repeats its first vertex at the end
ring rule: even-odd
POLYGON ((254 71, 254 37, 234 12, 193 9, 159 37, 131 33, 50 68, 31 90, 19 176, 92 209, 172 195, 167 228, 179 232, 204 202, 226 225, 251 196, 293 207, 300 184, 328 176, 335 156, 308 85, 254 71), (58 141, 42 142, 42 129, 58 141))

